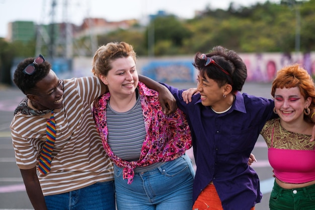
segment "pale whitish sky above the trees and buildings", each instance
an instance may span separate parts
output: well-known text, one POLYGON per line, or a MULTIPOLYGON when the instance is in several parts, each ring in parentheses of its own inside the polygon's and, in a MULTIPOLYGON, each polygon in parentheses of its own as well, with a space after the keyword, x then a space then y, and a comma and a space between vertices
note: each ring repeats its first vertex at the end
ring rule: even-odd
POLYGON ((57 23, 68 21, 81 25, 83 19, 88 17, 104 18, 107 21, 141 20, 159 10, 181 18, 193 18, 195 11, 202 11, 207 6, 227 9, 233 2, 247 7, 266 0, 55 0, 54 15, 51 12, 52 2, 53 0, 0 0, 0 37, 7 36, 8 23, 14 21, 48 24, 54 17, 57 23))

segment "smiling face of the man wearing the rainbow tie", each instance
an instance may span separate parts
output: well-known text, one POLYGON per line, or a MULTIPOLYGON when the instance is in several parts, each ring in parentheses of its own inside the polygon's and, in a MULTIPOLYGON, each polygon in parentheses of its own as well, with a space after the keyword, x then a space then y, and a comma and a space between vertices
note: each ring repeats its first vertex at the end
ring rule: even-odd
POLYGON ((63 101, 63 82, 53 71, 36 83, 32 94, 27 94, 38 110, 60 109, 63 101))

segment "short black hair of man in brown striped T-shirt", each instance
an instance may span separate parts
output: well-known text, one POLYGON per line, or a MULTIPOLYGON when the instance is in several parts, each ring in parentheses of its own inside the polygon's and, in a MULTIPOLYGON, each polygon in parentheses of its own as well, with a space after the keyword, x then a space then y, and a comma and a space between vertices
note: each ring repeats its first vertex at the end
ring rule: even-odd
POLYGON ((32 75, 23 73, 23 70, 29 64, 33 63, 35 57, 29 57, 21 61, 17 69, 14 72, 13 82, 17 87, 25 94, 32 93, 36 84, 44 79, 50 72, 51 64, 48 61, 44 61, 41 64, 34 64, 35 72, 32 75))

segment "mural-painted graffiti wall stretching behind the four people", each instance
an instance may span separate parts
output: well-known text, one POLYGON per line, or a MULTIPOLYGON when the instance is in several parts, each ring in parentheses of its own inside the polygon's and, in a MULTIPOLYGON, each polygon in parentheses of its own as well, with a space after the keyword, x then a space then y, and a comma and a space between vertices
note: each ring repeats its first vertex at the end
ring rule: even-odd
MULTIPOLYGON (((315 52, 287 53, 240 53, 247 66, 247 82, 270 83, 284 65, 299 63, 315 77, 315 52)), ((140 57, 136 61, 138 74, 165 83, 194 83, 198 71, 192 65, 194 55, 164 58, 140 57)), ((58 60, 59 61, 59 60, 58 60)), ((77 57, 72 60, 72 69, 65 71, 70 62, 56 62, 53 69, 61 79, 92 76, 92 57, 77 57)))

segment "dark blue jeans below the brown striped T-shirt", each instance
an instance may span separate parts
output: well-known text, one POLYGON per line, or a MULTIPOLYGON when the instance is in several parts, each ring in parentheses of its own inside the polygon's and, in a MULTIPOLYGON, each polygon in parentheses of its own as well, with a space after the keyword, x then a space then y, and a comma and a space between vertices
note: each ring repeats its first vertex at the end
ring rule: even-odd
POLYGON ((48 210, 115 210, 114 181, 97 182, 70 192, 47 195, 45 201, 48 210))

